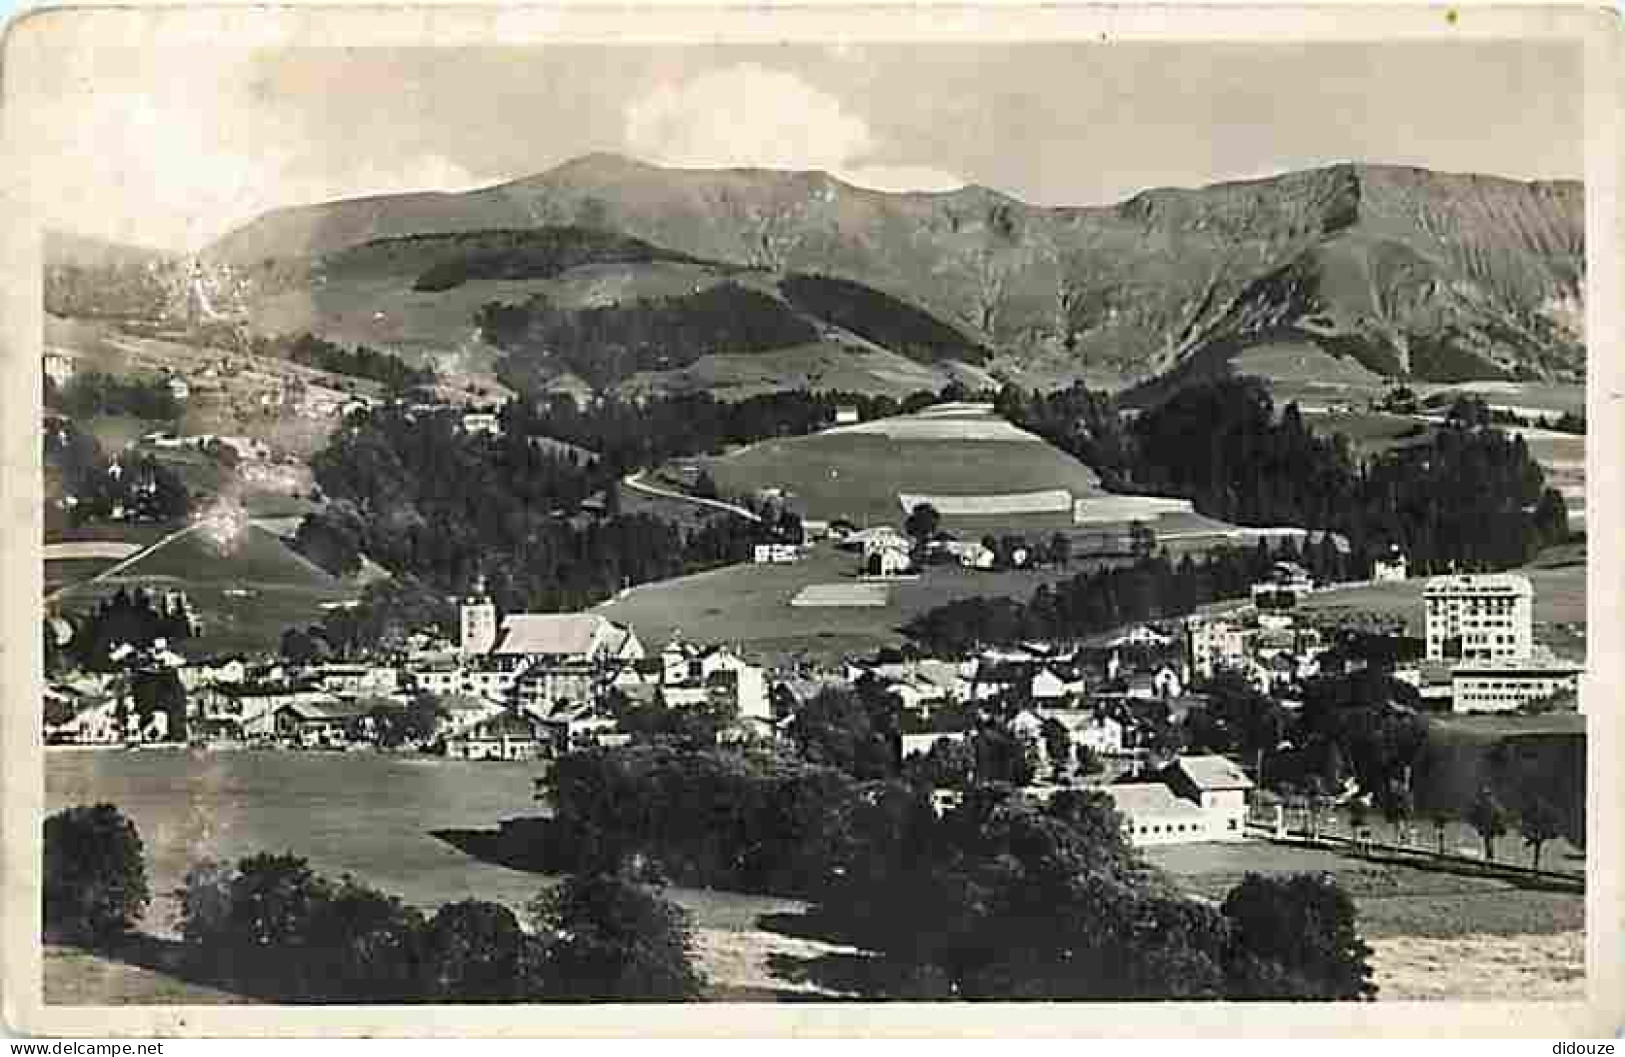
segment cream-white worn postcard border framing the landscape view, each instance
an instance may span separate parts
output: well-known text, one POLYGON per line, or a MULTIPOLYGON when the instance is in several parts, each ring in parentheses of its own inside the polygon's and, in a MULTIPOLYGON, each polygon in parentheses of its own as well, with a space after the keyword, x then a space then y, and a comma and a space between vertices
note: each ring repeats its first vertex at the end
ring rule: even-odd
MULTIPOLYGON (((297 5, 44 8, 13 20, 0 60, 0 1010, 41 1036, 1477 1036, 1604 1037, 1625 1024, 1625 787, 1617 702, 1625 587, 1618 532, 1625 496, 1625 381, 1620 371, 1625 228, 1620 187, 1620 16, 1606 7, 1484 3, 1386 7, 1074 3, 569 3, 551 7, 297 5), (41 1003, 39 603, 42 566, 41 265, 32 194, 50 174, 31 166, 29 70, 52 41, 119 47, 517 46, 548 42, 769 41, 1211 41, 1332 42, 1571 39, 1586 62, 1588 246, 1588 624, 1589 738, 1588 990, 1584 1003, 1372 1005, 694 1005, 694 1007, 47 1007, 41 1003), (21 223, 18 223, 21 221, 21 223)), ((1485 115, 1493 135, 1493 115, 1485 115)), ((184 164, 184 159, 177 159, 184 164)))

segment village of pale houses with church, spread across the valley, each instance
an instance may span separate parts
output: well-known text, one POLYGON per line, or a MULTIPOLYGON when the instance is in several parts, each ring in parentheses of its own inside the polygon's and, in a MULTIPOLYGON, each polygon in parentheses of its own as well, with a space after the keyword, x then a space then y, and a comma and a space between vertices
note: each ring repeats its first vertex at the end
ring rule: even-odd
MULTIPOLYGON (((915 574, 915 540, 904 532, 855 525, 814 532, 852 551, 863 579, 915 574)), ((796 561, 808 546, 814 543, 760 545, 756 559, 796 561)), ((991 561, 991 548, 975 543, 952 559, 980 566, 991 561)), ((1025 561, 1025 555, 1001 559, 1025 561)), ((1406 574, 1406 559, 1394 551, 1376 563, 1373 579, 1402 582, 1406 574)), ((894 711, 890 751, 900 768, 973 756, 968 742, 991 729, 1022 756, 1001 777, 1032 797, 1098 787, 1112 795, 1134 844, 1230 841, 1245 836, 1250 807, 1259 807, 1264 751, 1256 758, 1202 751, 1193 730, 1212 706, 1209 691, 1219 681, 1240 685, 1290 714, 1302 707, 1306 681, 1365 667, 1367 660, 1336 649, 1336 626, 1298 611, 1316 590, 1337 587, 1316 585, 1303 566, 1279 561, 1246 600, 1084 641, 951 657, 881 650, 840 665, 767 667, 739 646, 691 642, 681 633, 647 644, 635 628, 600 613, 499 613, 484 584, 474 582, 455 598, 455 641, 418 629, 405 649, 366 659, 188 660, 164 639, 115 649, 117 672, 65 675, 47 686, 47 716, 58 720, 47 722, 46 740, 128 750, 434 753, 536 763, 544 771, 570 751, 632 743, 635 732, 650 729, 650 717, 705 716, 712 722, 702 737, 712 746, 793 750, 791 729, 806 706, 824 693, 858 689, 894 711), (182 704, 143 716, 132 685, 154 673, 172 673, 182 704)), ((184 594, 171 594, 161 600, 166 611, 187 613, 184 594)), ((1420 657, 1398 655, 1391 678, 1412 686, 1428 711, 1578 707, 1580 667, 1534 644, 1532 602, 1529 581, 1518 574, 1430 577, 1425 647, 1420 657)), ((49 628, 63 641, 73 634, 60 618, 49 628)), ((936 802, 942 808, 957 795, 939 787, 936 802)), ((1354 781, 1332 795, 1354 797, 1354 781)))

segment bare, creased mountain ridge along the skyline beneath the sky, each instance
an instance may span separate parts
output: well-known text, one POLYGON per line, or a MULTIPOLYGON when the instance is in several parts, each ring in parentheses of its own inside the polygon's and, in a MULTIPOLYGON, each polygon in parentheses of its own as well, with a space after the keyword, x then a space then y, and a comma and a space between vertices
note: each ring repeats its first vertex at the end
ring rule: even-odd
POLYGON ((968 328, 1016 374, 1146 377, 1282 328, 1424 379, 1571 379, 1584 363, 1580 184, 1389 166, 1040 208, 982 187, 881 194, 595 154, 462 195, 281 210, 208 257, 275 273, 375 239, 544 224, 860 281, 968 328))

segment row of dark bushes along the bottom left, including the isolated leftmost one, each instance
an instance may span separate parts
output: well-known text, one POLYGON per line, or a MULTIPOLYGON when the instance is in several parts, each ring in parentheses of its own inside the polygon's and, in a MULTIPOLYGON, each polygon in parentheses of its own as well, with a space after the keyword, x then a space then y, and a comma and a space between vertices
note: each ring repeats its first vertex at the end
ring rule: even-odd
MULTIPOLYGON (((426 914, 294 854, 205 860, 172 893, 184 969, 275 1002, 692 1002, 686 911, 656 886, 577 873, 525 911, 483 899, 426 914)), ((75 807, 44 824, 44 924, 50 937, 106 950, 151 904, 145 846, 115 807, 75 807)))

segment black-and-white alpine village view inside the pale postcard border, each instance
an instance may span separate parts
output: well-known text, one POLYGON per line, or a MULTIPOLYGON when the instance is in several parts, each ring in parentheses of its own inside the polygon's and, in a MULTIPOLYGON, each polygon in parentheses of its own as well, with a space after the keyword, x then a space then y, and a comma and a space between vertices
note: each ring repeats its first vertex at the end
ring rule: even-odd
POLYGON ((1594 997, 1589 23, 62 18, 54 1023, 1594 997))

